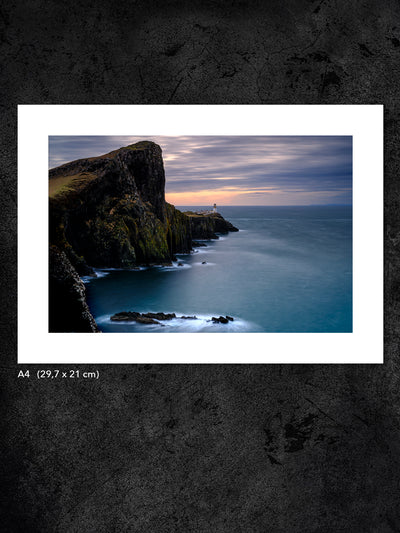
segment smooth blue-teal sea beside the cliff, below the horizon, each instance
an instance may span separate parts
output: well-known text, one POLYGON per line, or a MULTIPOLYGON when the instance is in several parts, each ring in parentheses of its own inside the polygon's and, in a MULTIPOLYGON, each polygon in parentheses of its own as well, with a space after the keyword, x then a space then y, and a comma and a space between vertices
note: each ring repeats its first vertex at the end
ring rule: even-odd
MULTIPOLYGON (((204 206, 178 209, 202 210, 204 206)), ((239 228, 178 254, 171 266, 83 278, 107 333, 352 331, 351 206, 226 206, 239 228), (121 311, 175 313, 162 324, 112 322, 121 311), (212 317, 229 315, 228 324, 212 317), (196 316, 182 319, 180 316, 196 316)))

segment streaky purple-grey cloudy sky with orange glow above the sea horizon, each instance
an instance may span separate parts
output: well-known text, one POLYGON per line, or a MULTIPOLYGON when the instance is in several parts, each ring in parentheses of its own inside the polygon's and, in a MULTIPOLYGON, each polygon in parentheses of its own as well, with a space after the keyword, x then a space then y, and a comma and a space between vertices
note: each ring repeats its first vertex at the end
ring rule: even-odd
POLYGON ((350 136, 54 136, 49 167, 141 140, 162 148, 173 205, 352 203, 350 136))

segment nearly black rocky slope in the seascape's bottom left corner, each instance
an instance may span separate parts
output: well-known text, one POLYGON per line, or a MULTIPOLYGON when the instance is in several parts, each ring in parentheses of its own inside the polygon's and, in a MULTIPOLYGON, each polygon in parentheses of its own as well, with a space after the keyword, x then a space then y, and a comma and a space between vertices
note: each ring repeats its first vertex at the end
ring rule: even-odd
POLYGON ((83 281, 66 254, 56 246, 50 246, 49 250, 49 331, 99 331, 86 303, 83 281))

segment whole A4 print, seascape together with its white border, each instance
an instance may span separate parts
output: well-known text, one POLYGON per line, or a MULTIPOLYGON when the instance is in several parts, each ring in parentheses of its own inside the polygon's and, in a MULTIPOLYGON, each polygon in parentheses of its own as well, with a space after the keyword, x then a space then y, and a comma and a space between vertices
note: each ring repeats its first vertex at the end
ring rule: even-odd
POLYGON ((19 361, 382 362, 382 117, 20 106, 19 361))

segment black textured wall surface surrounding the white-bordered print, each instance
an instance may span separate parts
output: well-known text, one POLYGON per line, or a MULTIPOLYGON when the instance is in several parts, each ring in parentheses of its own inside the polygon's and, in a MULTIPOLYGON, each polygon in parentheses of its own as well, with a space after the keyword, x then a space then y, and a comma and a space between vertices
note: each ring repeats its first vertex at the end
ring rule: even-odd
POLYGON ((399 15, 393 0, 3 3, 1 531, 400 531, 399 15), (385 364, 17 380, 16 106, 47 103, 383 103, 385 364))

